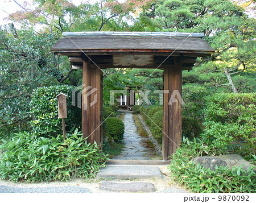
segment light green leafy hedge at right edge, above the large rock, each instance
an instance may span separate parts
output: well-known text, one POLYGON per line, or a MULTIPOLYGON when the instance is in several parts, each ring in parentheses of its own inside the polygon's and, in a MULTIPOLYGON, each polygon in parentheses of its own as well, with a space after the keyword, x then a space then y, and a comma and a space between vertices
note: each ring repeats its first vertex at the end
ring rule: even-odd
POLYGON ((238 150, 247 159, 255 155, 255 96, 255 93, 222 93, 208 97, 204 110, 204 142, 220 150, 238 150))

